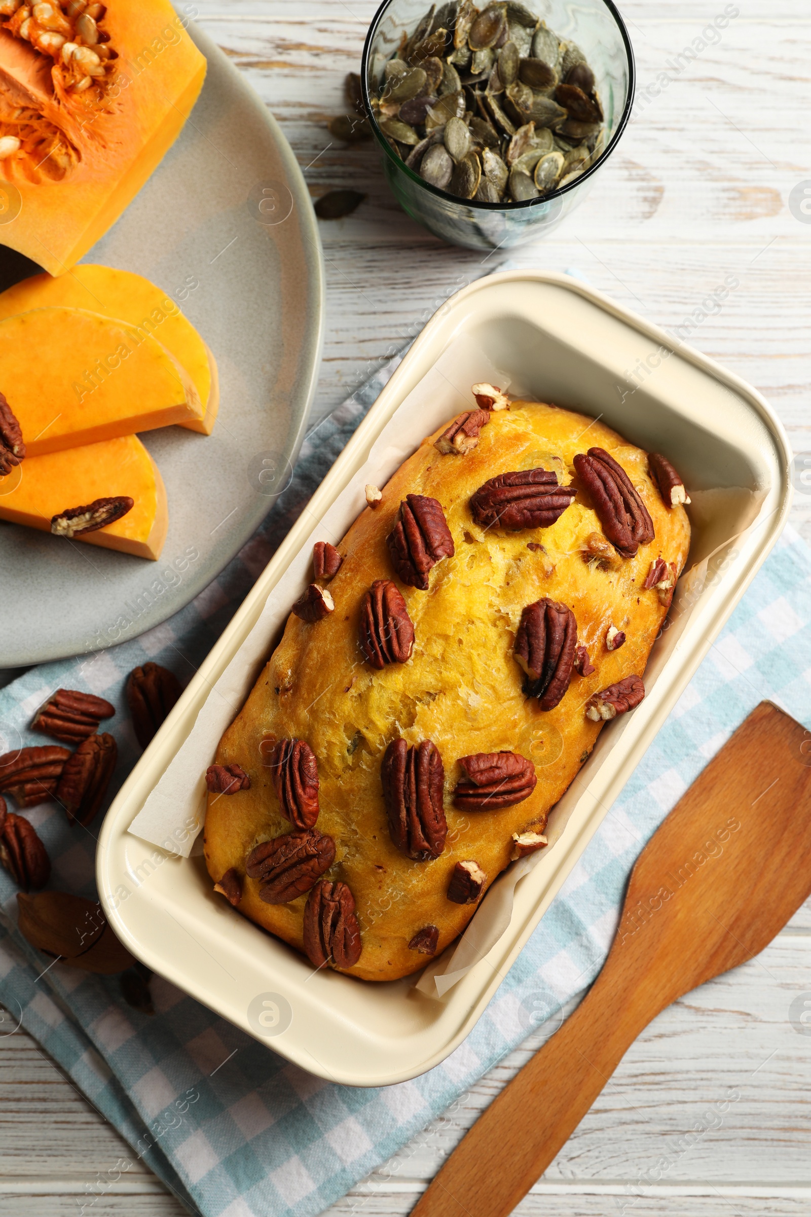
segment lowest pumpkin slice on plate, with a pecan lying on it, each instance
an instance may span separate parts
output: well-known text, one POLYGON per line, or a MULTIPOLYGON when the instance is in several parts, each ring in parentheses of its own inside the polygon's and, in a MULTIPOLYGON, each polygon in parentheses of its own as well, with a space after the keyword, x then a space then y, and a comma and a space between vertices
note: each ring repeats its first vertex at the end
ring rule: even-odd
POLYGON ((0 520, 50 532, 52 516, 118 495, 133 499, 126 515, 73 540, 157 560, 169 526, 167 492, 158 466, 137 436, 27 456, 0 478, 0 520))

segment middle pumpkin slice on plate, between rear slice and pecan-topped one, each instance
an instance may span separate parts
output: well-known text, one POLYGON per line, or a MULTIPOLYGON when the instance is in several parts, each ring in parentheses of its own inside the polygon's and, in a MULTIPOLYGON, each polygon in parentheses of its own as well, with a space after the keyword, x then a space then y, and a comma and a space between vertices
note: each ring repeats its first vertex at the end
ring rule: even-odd
POLYGON ((0 392, 29 456, 203 417, 191 377, 157 338, 78 308, 0 321, 0 392))

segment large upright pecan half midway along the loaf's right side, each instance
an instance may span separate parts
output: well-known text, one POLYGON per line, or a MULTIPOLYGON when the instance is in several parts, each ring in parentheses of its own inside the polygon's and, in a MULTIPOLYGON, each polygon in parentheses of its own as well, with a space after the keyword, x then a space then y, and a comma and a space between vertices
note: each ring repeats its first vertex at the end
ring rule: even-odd
POLYGON ((578 623, 565 605, 545 596, 520 615, 513 655, 526 673, 524 692, 541 710, 554 710, 569 688, 578 646, 578 623))

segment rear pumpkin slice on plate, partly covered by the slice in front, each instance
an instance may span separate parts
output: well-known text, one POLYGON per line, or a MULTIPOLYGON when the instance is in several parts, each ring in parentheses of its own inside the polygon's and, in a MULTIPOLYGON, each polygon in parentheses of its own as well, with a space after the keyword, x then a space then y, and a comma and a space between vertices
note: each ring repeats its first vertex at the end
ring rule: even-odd
POLYGON ((33 275, 9 287, 0 293, 0 321, 16 313, 55 304, 101 313, 157 338, 191 376, 205 411, 203 419, 192 419, 180 426, 210 436, 220 405, 214 355, 165 292, 130 270, 83 263, 58 279, 33 275))

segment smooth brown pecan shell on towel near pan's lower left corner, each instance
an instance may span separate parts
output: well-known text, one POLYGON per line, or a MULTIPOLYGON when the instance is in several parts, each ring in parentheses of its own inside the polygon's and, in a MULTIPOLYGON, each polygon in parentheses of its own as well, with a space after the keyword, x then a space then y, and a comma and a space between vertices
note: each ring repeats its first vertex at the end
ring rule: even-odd
POLYGON ((18 927, 32 947, 68 968, 111 976, 136 960, 107 924, 101 904, 69 892, 17 893, 18 927))

